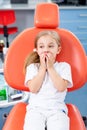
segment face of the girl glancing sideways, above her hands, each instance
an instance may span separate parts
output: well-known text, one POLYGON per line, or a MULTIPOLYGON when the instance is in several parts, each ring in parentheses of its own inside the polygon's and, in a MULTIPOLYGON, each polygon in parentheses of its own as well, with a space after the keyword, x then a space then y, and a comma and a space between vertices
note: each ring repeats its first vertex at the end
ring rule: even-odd
POLYGON ((42 36, 37 41, 37 53, 39 56, 42 54, 44 56, 51 56, 56 59, 56 55, 60 52, 61 47, 58 46, 58 43, 51 36, 46 35, 42 36))

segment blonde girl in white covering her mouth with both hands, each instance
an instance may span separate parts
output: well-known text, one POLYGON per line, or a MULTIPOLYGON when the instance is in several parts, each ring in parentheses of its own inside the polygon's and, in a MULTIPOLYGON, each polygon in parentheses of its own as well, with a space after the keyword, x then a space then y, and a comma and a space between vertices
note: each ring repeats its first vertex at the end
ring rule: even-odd
POLYGON ((55 31, 41 31, 35 39, 35 51, 25 62, 25 85, 30 90, 24 130, 69 130, 67 88, 72 87, 70 65, 57 62, 61 51, 55 31))

